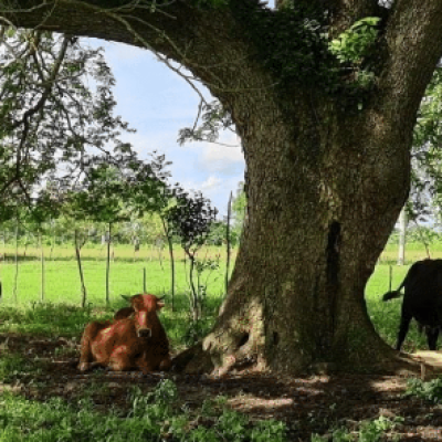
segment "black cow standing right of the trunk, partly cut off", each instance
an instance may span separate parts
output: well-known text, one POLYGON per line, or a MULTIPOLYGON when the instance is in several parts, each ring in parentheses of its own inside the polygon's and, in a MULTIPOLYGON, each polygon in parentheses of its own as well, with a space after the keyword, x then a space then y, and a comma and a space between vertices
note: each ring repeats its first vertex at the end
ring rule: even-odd
POLYGON ((396 349, 400 350, 410 322, 414 318, 424 328, 430 350, 435 350, 442 327, 442 260, 417 261, 394 292, 383 295, 383 301, 400 297, 404 287, 402 314, 396 349))

